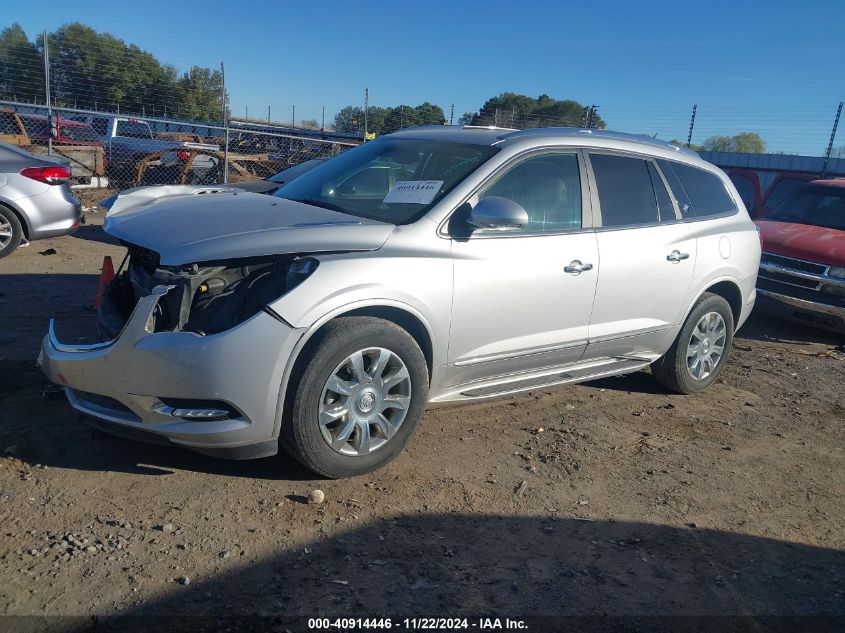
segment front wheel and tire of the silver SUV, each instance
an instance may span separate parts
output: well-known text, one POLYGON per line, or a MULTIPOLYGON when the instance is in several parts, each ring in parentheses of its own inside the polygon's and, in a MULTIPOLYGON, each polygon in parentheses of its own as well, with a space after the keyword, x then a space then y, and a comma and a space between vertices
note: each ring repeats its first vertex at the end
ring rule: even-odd
POLYGON ((407 331, 384 319, 342 317, 329 322, 300 358, 304 362, 291 377, 281 438, 294 459, 336 479, 381 468, 402 451, 419 426, 428 400, 428 366, 407 331), (359 353, 363 373, 358 375, 365 376, 363 380, 356 378, 352 361, 359 353), (348 395, 329 387, 332 377, 340 377, 332 384, 348 395), (388 386, 392 381, 399 382, 388 386), (400 402, 404 409, 399 408, 400 402), (387 408, 382 410, 382 406, 387 408), (325 423, 344 408, 345 415, 325 423), (379 411, 384 420, 379 419, 379 411), (351 434, 344 439, 350 427, 351 434), (330 441, 336 443, 334 448, 330 441), (370 450, 364 450, 365 445, 370 450))

